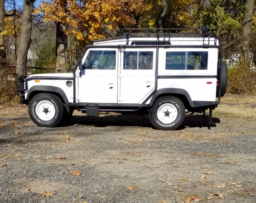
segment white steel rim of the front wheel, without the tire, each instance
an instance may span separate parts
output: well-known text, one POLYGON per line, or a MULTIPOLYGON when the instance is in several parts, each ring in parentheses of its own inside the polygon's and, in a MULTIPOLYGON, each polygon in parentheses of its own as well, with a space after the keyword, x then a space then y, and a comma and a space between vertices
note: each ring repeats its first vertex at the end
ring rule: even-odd
POLYGON ((47 100, 39 101, 35 108, 36 114, 41 120, 51 120, 55 115, 53 103, 47 100))

